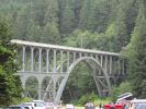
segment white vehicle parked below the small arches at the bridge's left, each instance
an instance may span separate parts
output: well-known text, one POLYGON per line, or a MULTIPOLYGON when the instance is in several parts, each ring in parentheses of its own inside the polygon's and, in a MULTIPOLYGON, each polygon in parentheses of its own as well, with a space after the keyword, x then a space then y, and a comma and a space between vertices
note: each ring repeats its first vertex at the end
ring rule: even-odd
POLYGON ((25 106, 31 106, 33 109, 46 109, 45 105, 42 102, 24 102, 22 104, 24 107, 25 106))

